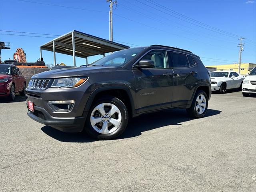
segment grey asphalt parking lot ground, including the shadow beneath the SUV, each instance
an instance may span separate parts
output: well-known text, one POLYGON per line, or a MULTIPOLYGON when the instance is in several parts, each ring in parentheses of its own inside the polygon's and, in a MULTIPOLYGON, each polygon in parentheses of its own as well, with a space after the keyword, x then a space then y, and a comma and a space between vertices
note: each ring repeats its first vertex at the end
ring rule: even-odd
POLYGON ((255 191, 256 98, 212 94, 205 118, 166 110, 116 140, 63 133, 0 103, 1 191, 255 191))

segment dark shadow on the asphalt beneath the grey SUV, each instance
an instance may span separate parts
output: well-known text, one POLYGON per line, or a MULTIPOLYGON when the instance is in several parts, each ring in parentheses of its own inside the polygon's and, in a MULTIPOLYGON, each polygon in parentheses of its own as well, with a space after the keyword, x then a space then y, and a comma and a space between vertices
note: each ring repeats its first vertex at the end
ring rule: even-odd
MULTIPOLYGON (((214 116, 220 114, 221 111, 208 109, 206 116, 214 116)), ((156 128, 168 125, 181 125, 181 122, 193 120, 190 118, 186 110, 170 109, 150 114, 144 114, 130 120, 124 133, 116 139, 132 138, 156 128)), ((44 126, 41 130, 48 136, 61 142, 94 142, 95 139, 90 138, 84 133, 64 133, 50 126, 44 126)))

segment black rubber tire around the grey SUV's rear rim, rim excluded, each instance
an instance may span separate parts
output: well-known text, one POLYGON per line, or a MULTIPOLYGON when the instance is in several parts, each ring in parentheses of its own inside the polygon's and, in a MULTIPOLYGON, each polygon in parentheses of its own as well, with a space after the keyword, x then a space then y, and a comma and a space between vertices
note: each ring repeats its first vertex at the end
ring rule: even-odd
POLYGON ((190 108, 187 109, 188 115, 193 117, 193 118, 202 118, 206 114, 207 109, 208 109, 208 96, 207 96, 207 94, 204 91, 202 91, 202 90, 196 91, 196 94, 194 96, 192 104, 191 104, 190 108), (199 114, 198 110, 196 110, 196 104, 197 104, 196 99, 200 95, 204 95, 204 97, 205 97, 205 104, 206 104, 204 112, 202 114, 199 114))

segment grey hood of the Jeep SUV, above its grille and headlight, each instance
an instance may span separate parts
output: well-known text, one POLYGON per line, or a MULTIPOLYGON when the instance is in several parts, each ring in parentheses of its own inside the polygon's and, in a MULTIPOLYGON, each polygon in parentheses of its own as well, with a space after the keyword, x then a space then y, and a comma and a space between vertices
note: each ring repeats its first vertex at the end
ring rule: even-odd
POLYGON ((88 66, 88 67, 76 67, 76 68, 64 68, 46 71, 38 73, 32 78, 36 79, 46 79, 46 78, 62 78, 62 77, 72 77, 72 76, 86 76, 87 74, 94 72, 105 72, 105 71, 115 71, 118 67, 109 66, 88 66))

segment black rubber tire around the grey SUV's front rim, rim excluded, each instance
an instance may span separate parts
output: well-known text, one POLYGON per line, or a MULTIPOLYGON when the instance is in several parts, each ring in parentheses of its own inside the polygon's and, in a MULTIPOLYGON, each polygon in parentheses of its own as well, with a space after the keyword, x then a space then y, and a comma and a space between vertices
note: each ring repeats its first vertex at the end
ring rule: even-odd
POLYGON ((128 110, 127 110, 126 106, 124 105, 124 103, 120 99, 115 98, 113 96, 104 96, 103 98, 100 98, 99 100, 97 100, 96 102, 94 102, 92 104, 92 106, 88 112, 88 115, 87 115, 84 131, 89 136, 96 138, 98 140, 110 140, 110 139, 114 139, 114 138, 120 136, 120 134, 122 134, 124 132, 124 130, 126 129, 127 124, 128 124, 128 110), (109 134, 102 134, 102 133, 97 132, 96 130, 94 130, 94 128, 92 127, 92 124, 90 122, 90 117, 91 117, 91 114, 92 114, 94 108, 102 103, 114 104, 120 110, 120 113, 122 116, 120 126, 118 126, 118 128, 114 132, 109 133, 109 134))

